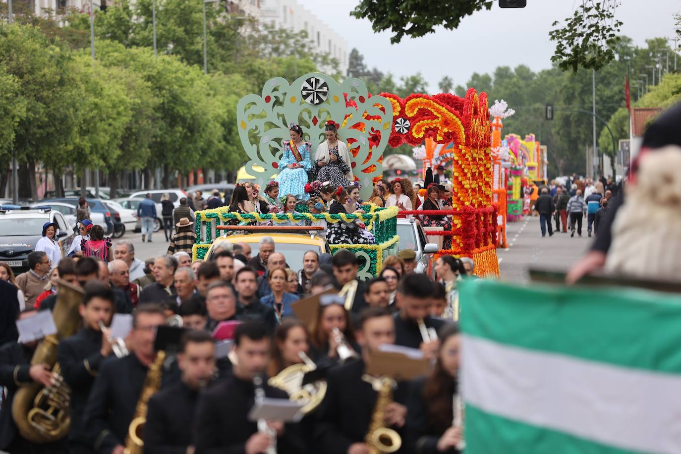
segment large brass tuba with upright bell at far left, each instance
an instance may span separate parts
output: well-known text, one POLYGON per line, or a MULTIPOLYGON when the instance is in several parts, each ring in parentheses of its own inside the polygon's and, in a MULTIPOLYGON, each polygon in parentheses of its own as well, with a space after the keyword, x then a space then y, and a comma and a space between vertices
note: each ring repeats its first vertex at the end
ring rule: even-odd
POLYGON ((73 336, 80 328, 78 307, 83 299, 83 291, 64 280, 58 282, 57 304, 52 311, 57 333, 45 336, 31 358, 31 366, 45 363, 52 368, 57 378, 49 387, 38 383, 19 387, 12 402, 12 417, 19 433, 35 444, 61 440, 71 427, 71 389, 59 375, 61 368, 57 363, 57 345, 59 340, 73 336))

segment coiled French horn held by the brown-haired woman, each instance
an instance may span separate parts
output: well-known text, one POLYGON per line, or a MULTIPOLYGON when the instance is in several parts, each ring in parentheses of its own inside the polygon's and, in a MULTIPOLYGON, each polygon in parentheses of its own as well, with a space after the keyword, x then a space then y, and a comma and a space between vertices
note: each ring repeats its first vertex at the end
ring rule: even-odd
POLYGON ((302 379, 307 372, 317 369, 312 359, 305 353, 298 352, 298 356, 304 361, 303 364, 289 366, 268 380, 268 385, 283 389, 289 395, 289 400, 305 404, 300 409, 303 415, 317 408, 326 395, 326 380, 317 380, 315 383, 302 385, 302 379))

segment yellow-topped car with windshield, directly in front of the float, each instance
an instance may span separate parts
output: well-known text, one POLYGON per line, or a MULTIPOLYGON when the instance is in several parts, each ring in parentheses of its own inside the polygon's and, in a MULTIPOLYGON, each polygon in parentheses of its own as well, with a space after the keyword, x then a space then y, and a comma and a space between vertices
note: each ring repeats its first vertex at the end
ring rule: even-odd
MULTIPOLYGON (((275 228, 272 228, 274 230, 275 228)), ((276 232, 264 231, 262 233, 245 233, 238 235, 219 236, 210 245, 208 253, 204 260, 208 260, 212 251, 219 247, 224 242, 238 243, 244 242, 251 246, 251 257, 255 257, 260 250, 260 239, 269 236, 274 240, 274 250, 278 253, 283 253, 286 257, 286 263, 291 266, 293 270, 302 268, 302 257, 308 250, 314 250, 317 254, 330 254, 331 249, 328 243, 321 236, 316 236, 314 233, 293 233, 293 232, 276 232)))

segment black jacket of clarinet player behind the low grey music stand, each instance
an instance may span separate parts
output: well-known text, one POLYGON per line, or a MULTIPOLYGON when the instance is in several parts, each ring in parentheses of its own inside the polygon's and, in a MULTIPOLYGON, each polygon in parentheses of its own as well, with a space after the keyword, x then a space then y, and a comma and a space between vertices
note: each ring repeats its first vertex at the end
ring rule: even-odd
MULTIPOLYGON (((268 398, 288 398, 281 389, 264 385, 264 390, 268 398)), ((234 374, 206 389, 199 398, 195 416, 196 454, 244 453, 247 440, 257 432, 257 423, 248 419, 253 402, 253 383, 234 374)), ((285 425, 283 436, 276 440, 276 449, 279 454, 307 452, 298 424, 285 425)))

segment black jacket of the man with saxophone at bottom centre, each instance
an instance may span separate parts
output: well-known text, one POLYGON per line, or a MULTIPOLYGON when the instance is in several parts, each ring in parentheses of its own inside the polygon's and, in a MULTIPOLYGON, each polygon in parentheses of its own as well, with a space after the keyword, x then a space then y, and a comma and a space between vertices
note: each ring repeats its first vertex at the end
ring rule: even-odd
MULTIPOLYGON (((364 442, 378 395, 362 380, 364 367, 364 361, 358 359, 329 372, 326 396, 317 410, 315 452, 345 454, 351 444, 364 442)), ((393 400, 404 403, 407 392, 407 383, 398 383, 393 400)))

